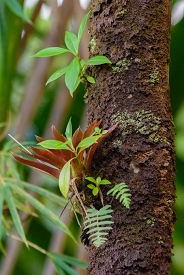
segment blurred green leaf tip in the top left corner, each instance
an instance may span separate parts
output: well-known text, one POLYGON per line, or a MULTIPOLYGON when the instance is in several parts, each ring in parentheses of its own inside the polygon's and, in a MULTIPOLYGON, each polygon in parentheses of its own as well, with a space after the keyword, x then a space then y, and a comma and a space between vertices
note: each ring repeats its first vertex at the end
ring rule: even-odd
POLYGON ((20 3, 17 0, 5 0, 8 8, 18 17, 22 18, 24 21, 32 25, 29 17, 24 13, 20 3))

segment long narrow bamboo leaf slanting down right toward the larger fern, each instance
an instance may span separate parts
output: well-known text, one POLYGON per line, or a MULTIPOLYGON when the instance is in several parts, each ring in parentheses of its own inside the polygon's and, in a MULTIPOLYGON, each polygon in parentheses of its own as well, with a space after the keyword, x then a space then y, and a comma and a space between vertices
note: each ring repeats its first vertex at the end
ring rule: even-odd
MULTIPOLYGON (((70 236, 74 241, 75 238, 68 229, 68 227, 52 212, 49 208, 39 202, 37 199, 33 198, 30 194, 24 191, 19 186, 8 183, 14 191, 20 195, 22 195, 26 200, 28 200, 41 214, 43 214, 47 219, 53 222, 58 228, 60 228, 63 232, 65 232, 68 236, 70 236)), ((76 241, 75 241, 76 242, 76 241)))

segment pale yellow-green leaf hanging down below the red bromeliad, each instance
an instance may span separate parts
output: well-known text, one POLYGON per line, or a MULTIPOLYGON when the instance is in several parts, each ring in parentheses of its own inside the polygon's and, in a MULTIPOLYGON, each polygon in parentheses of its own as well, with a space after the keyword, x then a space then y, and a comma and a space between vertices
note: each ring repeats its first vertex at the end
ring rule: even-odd
POLYGON ((63 166, 59 175, 59 189, 66 199, 68 199, 68 191, 70 187, 70 161, 63 166))

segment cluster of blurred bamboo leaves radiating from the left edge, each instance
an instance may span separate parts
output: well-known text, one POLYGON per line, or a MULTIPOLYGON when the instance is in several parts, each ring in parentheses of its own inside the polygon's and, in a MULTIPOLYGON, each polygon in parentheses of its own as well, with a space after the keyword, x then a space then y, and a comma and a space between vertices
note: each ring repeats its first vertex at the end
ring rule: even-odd
MULTIPOLYGON (((28 191, 46 197, 50 201, 63 206, 66 200, 39 186, 29 184, 20 179, 19 173, 7 150, 0 151, 0 232, 1 237, 6 232, 10 234, 12 224, 15 225, 21 239, 28 246, 24 229, 19 216, 22 211, 30 216, 37 216, 35 209, 53 222, 73 240, 74 237, 68 227, 45 205, 29 194, 28 191), (4 232, 4 233, 3 233, 4 232)), ((1 241, 0 241, 1 243, 1 241)), ((2 244, 0 249, 3 251, 2 244)))

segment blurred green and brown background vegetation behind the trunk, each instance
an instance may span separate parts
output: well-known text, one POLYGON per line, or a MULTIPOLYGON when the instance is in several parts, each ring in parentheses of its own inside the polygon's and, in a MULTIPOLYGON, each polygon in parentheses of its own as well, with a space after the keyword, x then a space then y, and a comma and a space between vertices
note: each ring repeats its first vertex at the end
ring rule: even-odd
MULTIPOLYGON (((23 4, 23 1, 19 2, 23 4)), ((1 6, 1 152, 5 152, 8 148, 7 133, 12 134, 19 141, 29 141, 30 144, 35 142, 35 134, 51 138, 52 124, 63 132, 69 117, 72 117, 74 129, 79 124, 83 129, 87 125, 83 99, 85 91, 82 85, 74 93, 73 99, 69 95, 63 78, 45 86, 48 77, 55 70, 66 66, 71 61, 71 56, 65 54, 61 57, 44 59, 31 57, 43 48, 64 46, 65 30, 77 33, 78 26, 87 12, 85 10, 87 2, 78 0, 25 1, 25 13, 31 18, 32 25, 12 13, 10 7, 5 6, 3 10, 1 6), (86 6, 82 8, 80 3, 86 6)), ((184 1, 175 0, 173 6, 170 85, 176 132, 177 199, 175 208, 177 221, 173 234, 175 247, 171 274, 182 275, 184 274, 184 19, 182 15, 179 18, 178 12, 184 9, 184 1), (177 5, 179 5, 178 9, 177 5)), ((84 59, 88 58, 88 43, 86 30, 80 49, 80 55, 84 59)), ((2 155, 1 153, 1 160, 2 155)), ((23 180, 60 195, 58 183, 53 179, 22 165, 17 165, 17 169, 23 180)), ((41 195, 37 198, 56 215, 60 215, 62 207, 41 195)), ((86 260, 84 247, 76 246, 70 238, 43 216, 40 218, 23 216, 22 218, 28 240, 47 251, 64 253, 86 260)), ((69 210, 65 210, 61 219, 70 226, 75 235, 80 235, 75 218, 69 210)), ((3 237, 2 244, 6 247, 7 256, 5 258, 2 253, 0 254, 1 275, 55 274, 52 263, 39 251, 33 248, 28 250, 24 244, 7 236, 3 237)), ((79 274, 85 274, 85 271, 80 270, 79 274)))

